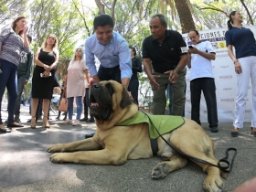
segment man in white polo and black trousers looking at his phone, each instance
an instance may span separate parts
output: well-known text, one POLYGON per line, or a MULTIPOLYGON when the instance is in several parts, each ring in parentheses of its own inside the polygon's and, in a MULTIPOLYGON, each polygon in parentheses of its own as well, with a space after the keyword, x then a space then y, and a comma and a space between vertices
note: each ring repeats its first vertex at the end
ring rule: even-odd
POLYGON ((187 67, 191 68, 191 119, 200 123, 200 98, 203 91, 208 108, 208 123, 212 133, 218 133, 218 111, 216 101, 216 86, 212 72, 211 60, 215 60, 215 51, 209 41, 201 42, 197 30, 188 33, 192 45, 188 48, 191 55, 187 67))

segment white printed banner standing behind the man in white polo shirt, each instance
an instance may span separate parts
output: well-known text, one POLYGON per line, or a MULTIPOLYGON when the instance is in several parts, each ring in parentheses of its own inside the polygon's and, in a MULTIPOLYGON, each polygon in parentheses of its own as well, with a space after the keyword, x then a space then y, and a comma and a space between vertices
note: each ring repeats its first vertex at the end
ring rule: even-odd
MULTIPOLYGON (((255 26, 245 26, 251 28, 251 31, 256 37, 255 26)), ((227 28, 211 29, 199 31, 200 40, 208 40, 211 42, 213 48, 215 48, 216 59, 212 60, 212 70, 216 83, 216 96, 219 123, 232 123, 234 119, 234 109, 237 95, 237 74, 235 72, 234 63, 229 58, 228 49, 226 47, 225 33, 227 28)), ((190 39, 187 34, 182 35, 187 42, 187 46, 191 45, 190 39)), ((234 50, 235 53, 235 50, 234 50)), ((190 70, 187 68, 187 92, 186 92, 186 107, 185 116, 191 118, 191 102, 190 102, 190 70)), ((248 87, 248 95, 246 101, 245 119, 244 123, 251 122, 251 82, 248 87)), ((204 94, 201 94, 200 104, 200 121, 201 123, 208 123, 207 105, 204 98, 204 94)))

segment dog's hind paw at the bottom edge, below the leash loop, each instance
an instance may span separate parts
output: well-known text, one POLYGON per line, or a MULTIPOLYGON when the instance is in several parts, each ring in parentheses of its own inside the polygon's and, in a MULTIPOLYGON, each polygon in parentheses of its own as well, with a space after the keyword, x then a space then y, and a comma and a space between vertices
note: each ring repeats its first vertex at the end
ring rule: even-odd
POLYGON ((222 191, 223 181, 220 176, 208 176, 204 181, 204 189, 208 192, 222 191))

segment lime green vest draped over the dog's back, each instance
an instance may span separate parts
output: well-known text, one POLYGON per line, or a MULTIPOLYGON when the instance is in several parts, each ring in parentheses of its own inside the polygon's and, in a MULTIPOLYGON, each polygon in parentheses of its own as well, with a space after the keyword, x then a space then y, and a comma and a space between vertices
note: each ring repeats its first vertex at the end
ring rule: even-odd
POLYGON ((130 119, 123 121, 122 123, 117 123, 116 126, 127 126, 138 123, 148 123, 149 135, 151 139, 156 139, 160 135, 165 133, 170 133, 176 128, 180 127, 184 123, 184 119, 181 116, 175 115, 153 115, 144 112, 137 112, 135 116, 130 119), (153 126, 154 123, 155 127, 153 126), (157 131, 160 133, 157 133, 157 131))

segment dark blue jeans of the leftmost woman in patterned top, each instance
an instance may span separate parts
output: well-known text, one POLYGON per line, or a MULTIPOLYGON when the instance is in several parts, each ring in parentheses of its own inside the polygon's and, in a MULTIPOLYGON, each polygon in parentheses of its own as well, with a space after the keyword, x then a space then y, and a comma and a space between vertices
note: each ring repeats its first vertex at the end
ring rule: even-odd
POLYGON ((9 94, 8 100, 8 123, 14 123, 14 113, 16 108, 16 68, 17 66, 7 60, 0 59, 2 73, 0 74, 0 124, 2 122, 2 114, 1 114, 1 105, 2 98, 5 93, 5 87, 7 88, 9 94))

